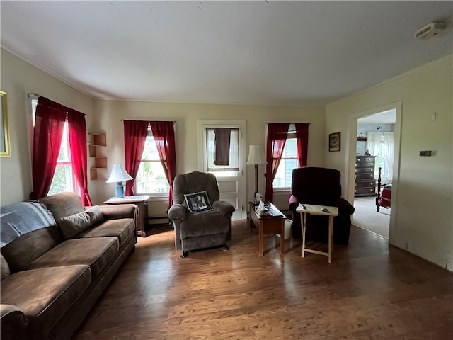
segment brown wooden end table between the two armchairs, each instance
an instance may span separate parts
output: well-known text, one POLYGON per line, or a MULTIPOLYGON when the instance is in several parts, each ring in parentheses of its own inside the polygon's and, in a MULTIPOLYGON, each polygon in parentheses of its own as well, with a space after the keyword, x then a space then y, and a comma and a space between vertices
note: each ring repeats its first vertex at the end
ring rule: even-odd
POLYGON ((266 234, 278 234, 280 233, 280 254, 285 254, 285 215, 278 210, 275 205, 270 203, 268 207, 275 216, 258 216, 255 212, 255 204, 253 202, 248 203, 250 205, 250 227, 255 225, 258 229, 260 236, 260 244, 258 253, 263 256, 263 238, 266 234))

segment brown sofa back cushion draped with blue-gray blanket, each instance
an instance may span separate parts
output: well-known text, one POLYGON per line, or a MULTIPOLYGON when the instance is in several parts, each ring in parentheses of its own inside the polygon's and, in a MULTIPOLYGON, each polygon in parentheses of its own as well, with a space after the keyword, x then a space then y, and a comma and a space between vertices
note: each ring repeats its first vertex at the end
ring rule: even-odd
POLYGON ((16 273, 62 242, 52 214, 37 202, 19 202, 0 208, 1 278, 16 273))

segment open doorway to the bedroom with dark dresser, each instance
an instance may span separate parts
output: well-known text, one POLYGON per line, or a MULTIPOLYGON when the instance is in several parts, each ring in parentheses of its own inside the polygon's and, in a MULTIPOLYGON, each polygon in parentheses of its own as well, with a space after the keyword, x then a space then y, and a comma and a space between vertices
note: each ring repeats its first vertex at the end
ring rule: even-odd
POLYGON ((354 225, 386 239, 389 238, 391 207, 381 207, 377 212, 376 196, 384 186, 391 188, 393 185, 395 127, 395 108, 357 119, 354 225), (379 168, 382 169, 381 186, 377 185, 379 168), (372 171, 366 175, 371 179, 362 179, 361 171, 372 171), (365 185, 371 187, 364 191, 365 185))

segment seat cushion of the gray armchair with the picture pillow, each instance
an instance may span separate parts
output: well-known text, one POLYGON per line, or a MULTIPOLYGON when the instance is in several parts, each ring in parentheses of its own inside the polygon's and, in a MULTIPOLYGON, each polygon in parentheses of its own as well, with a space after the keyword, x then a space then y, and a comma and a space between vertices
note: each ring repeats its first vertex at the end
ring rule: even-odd
POLYGON ((216 211, 193 212, 181 222, 181 239, 229 232, 229 220, 216 211))

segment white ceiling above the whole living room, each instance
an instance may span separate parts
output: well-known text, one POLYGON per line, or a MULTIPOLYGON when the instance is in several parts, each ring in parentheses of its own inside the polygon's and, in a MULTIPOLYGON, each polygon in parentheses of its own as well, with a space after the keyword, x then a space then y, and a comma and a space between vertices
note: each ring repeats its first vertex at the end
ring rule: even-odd
POLYGON ((94 98, 326 104, 453 52, 453 1, 0 6, 1 47, 94 98), (441 19, 440 34, 413 38, 441 19))

